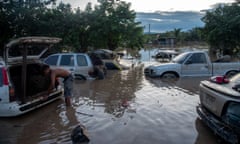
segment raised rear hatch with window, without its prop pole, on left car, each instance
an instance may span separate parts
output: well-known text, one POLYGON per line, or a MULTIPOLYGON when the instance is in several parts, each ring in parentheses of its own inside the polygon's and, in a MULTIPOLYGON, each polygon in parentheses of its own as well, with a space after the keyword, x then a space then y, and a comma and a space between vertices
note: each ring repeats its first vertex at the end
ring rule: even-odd
POLYGON ((5 47, 5 62, 21 62, 24 50, 27 51, 27 60, 39 60, 50 47, 60 41, 61 39, 56 37, 21 37, 14 39, 5 47))

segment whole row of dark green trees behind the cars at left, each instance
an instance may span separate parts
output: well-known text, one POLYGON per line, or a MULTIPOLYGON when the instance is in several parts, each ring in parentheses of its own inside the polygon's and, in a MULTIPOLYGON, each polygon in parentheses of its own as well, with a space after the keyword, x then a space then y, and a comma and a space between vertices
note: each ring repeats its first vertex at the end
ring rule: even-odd
POLYGON ((0 46, 21 36, 61 37, 61 49, 77 52, 142 46, 143 28, 129 3, 99 0, 95 9, 89 3, 84 11, 73 11, 70 4, 55 1, 0 1, 0 46))

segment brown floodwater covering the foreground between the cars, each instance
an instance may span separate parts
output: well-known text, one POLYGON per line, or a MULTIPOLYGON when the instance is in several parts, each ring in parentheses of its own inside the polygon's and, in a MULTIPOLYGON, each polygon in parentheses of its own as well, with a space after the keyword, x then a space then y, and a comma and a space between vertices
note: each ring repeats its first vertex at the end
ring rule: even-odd
POLYGON ((16 118, 0 118, 0 143, 71 144, 82 124, 90 144, 215 144, 198 118, 202 78, 146 78, 143 67, 110 71, 105 80, 74 82, 73 107, 63 100, 16 118))

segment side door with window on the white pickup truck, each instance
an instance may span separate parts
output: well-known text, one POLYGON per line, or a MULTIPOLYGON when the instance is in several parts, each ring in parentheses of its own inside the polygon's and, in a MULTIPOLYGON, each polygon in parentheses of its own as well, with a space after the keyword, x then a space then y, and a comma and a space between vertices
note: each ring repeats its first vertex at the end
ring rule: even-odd
POLYGON ((209 76, 210 69, 204 53, 193 53, 181 67, 183 76, 209 76))

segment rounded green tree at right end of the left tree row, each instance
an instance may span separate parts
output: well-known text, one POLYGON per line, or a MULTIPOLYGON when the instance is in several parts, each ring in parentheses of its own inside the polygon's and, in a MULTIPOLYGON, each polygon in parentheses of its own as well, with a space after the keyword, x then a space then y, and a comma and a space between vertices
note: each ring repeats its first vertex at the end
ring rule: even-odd
POLYGON ((108 48, 114 50, 119 46, 132 48, 141 45, 143 28, 135 22, 136 13, 130 10, 130 3, 124 1, 99 0, 100 5, 95 7, 93 13, 95 23, 92 25, 91 39, 96 48, 108 48), (135 35, 133 36, 133 33, 135 35), (129 36, 132 41, 130 44, 129 36))

